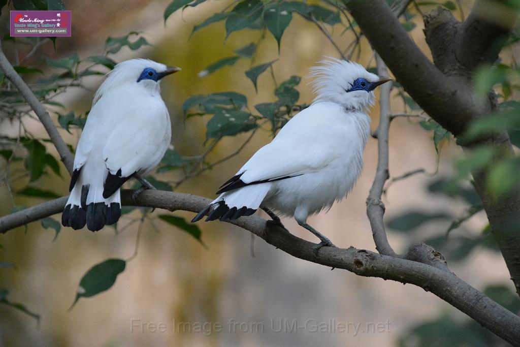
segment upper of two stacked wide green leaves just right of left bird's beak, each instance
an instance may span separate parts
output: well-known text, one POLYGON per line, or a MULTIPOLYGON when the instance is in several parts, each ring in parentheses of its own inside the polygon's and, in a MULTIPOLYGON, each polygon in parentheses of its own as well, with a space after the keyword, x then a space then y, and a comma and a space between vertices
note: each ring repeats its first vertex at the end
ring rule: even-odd
POLYGON ((221 92, 207 95, 194 95, 184 101, 183 112, 198 107, 203 114, 212 114, 222 108, 242 109, 248 104, 248 99, 236 92, 221 92))

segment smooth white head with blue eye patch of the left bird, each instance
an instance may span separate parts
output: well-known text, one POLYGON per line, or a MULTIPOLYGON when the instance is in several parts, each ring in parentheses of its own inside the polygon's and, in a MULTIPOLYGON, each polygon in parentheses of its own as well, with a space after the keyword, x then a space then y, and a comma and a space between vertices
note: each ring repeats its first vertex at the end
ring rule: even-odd
POLYGON ((94 102, 110 89, 130 84, 138 84, 159 92, 159 83, 162 78, 177 71, 180 71, 180 68, 166 66, 150 59, 138 58, 122 61, 109 72, 107 79, 99 87, 94 102))

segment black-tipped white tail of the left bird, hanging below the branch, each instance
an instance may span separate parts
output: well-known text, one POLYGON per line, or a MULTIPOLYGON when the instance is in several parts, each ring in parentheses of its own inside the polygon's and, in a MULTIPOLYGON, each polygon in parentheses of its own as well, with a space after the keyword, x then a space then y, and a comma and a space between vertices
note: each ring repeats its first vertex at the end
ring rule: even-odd
POLYGON ((88 230, 97 232, 105 225, 114 224, 121 216, 120 190, 103 198, 102 181, 92 184, 82 182, 80 177, 70 192, 61 215, 61 224, 77 230, 87 225, 88 230))

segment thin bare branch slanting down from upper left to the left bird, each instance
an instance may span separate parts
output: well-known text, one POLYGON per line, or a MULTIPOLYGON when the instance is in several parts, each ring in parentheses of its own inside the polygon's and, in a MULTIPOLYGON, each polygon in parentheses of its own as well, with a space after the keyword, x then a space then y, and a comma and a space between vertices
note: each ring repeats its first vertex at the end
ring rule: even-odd
POLYGON ((53 142, 54 146, 58 150, 61 161, 63 162, 63 164, 65 164, 69 173, 71 173, 72 166, 74 164, 74 157, 72 156, 72 153, 69 151, 67 144, 61 138, 58 129, 53 123, 53 120, 50 119, 49 113, 47 113, 40 101, 38 101, 38 98, 36 98, 29 86, 25 84, 25 82, 23 82, 20 75, 15 71, 15 69, 12 67, 11 63, 5 56, 1 41, 0 69, 4 71, 7 79, 18 88, 18 91, 20 91, 22 97, 25 99, 25 101, 27 101, 27 104, 29 104, 29 106, 31 106, 31 108, 33 109, 34 113, 36 113, 38 119, 40 119, 43 126, 45 127, 47 134, 49 134, 50 140, 53 142))

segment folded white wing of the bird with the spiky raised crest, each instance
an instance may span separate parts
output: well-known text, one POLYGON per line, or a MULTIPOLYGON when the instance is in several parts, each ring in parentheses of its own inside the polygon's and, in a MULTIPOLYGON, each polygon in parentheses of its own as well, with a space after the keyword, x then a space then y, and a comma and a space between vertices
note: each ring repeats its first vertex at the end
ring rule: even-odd
POLYGON ((323 137, 319 122, 312 119, 313 110, 305 111, 287 123, 271 143, 259 149, 217 194, 314 172, 334 160, 336 151, 330 150, 332 139, 323 137))

